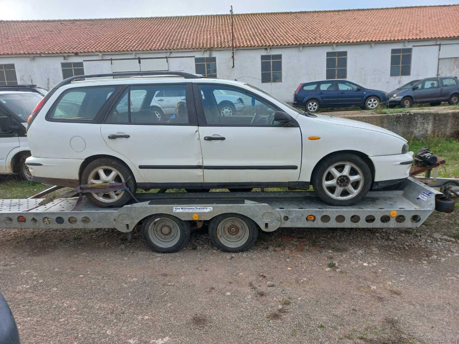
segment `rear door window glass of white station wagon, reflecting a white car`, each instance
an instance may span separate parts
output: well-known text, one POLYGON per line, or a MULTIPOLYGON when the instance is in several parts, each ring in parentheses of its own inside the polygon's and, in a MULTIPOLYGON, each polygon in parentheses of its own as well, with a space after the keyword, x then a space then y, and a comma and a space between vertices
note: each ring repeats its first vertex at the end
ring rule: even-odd
POLYGON ((130 86, 112 106, 105 122, 188 124, 186 85, 130 86))

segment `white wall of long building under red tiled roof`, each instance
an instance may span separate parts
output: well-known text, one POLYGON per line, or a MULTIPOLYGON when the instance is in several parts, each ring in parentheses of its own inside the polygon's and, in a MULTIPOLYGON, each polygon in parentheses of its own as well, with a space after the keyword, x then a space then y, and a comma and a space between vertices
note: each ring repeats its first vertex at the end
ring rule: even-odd
MULTIPOLYGON (((440 57, 459 57, 459 39, 444 39, 440 57), (451 44, 454 43, 454 44, 451 44)), ((291 101, 293 92, 303 82, 325 79, 327 51, 347 51, 347 79, 366 88, 390 91, 413 79, 437 75, 438 45, 435 40, 413 41, 406 46, 403 42, 365 43, 236 49, 235 67, 232 68, 231 51, 226 50, 185 50, 172 51, 168 56, 170 71, 195 72, 194 57, 215 56, 217 76, 222 79, 238 79, 273 94, 276 98, 291 101), (420 46, 423 45, 423 46, 420 46), (390 76, 391 50, 413 48, 411 75, 390 76), (261 57, 265 54, 282 55, 282 82, 261 83, 261 57), (185 57, 186 56, 186 57, 185 57)), ((166 52, 137 53, 135 57, 166 57, 166 52)), ((0 63, 14 63, 18 83, 36 83, 50 89, 62 80, 61 62, 84 61, 85 74, 112 72, 112 59, 133 58, 132 53, 80 54, 67 56, 4 56, 0 63), (22 79, 24 80, 22 80, 22 79)))

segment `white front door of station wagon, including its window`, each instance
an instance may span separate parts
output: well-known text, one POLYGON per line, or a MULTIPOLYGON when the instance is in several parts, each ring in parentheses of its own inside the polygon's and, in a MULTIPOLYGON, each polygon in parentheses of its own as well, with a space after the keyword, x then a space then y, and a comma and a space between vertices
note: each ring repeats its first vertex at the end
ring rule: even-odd
POLYGON ((298 180, 300 128, 274 122, 275 105, 236 87, 201 83, 193 87, 205 183, 250 187, 251 182, 260 185, 298 180), (221 116, 215 99, 218 91, 244 100, 239 115, 221 116))

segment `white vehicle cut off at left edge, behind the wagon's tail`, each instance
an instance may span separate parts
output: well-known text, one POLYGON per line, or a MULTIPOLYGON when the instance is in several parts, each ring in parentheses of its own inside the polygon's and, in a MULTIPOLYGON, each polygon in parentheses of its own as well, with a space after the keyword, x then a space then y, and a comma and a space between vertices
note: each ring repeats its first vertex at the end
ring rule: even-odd
POLYGON ((26 122, 43 96, 32 88, 13 90, 0 86, 0 174, 16 173, 32 181, 26 159, 30 150, 26 137, 26 122), (5 124, 6 123, 6 124, 5 124))

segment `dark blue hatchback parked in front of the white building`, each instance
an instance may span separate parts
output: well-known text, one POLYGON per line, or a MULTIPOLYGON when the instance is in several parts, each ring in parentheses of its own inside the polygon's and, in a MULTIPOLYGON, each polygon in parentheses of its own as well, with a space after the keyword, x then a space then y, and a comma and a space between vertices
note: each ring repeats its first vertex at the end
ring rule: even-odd
POLYGON ((315 112, 319 108, 360 106, 375 109, 386 104, 386 92, 365 89, 347 80, 320 80, 301 83, 293 94, 293 105, 304 106, 306 111, 315 112))

